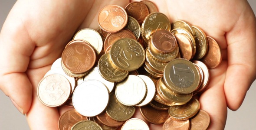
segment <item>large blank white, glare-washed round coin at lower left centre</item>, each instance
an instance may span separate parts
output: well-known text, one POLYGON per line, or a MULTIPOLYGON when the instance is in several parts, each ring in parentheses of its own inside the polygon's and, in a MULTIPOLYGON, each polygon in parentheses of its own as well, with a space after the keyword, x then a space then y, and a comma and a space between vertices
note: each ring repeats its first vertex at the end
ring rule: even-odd
POLYGON ((79 114, 93 117, 105 110, 109 99, 108 89, 100 81, 86 80, 75 88, 72 98, 79 114))

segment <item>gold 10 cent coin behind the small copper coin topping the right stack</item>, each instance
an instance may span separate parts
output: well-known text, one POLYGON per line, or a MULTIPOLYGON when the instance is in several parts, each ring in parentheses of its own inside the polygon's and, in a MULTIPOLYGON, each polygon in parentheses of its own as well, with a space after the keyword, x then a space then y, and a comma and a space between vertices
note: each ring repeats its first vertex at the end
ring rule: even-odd
POLYGON ((157 30, 171 30, 171 24, 166 15, 160 12, 149 14, 141 25, 141 35, 148 42, 151 35, 157 30))

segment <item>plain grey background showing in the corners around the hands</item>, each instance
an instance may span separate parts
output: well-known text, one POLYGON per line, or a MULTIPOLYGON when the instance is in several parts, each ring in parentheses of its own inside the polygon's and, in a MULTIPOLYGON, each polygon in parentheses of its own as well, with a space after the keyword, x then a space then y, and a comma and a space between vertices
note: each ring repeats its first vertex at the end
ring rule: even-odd
MULTIPOLYGON (((16 0, 0 0, 0 29, 16 0)), ((256 13, 256 0, 248 0, 256 13)), ((237 111, 228 110, 225 130, 256 130, 256 81, 246 94, 237 111)), ((0 91, 0 130, 29 130, 26 117, 0 91)))

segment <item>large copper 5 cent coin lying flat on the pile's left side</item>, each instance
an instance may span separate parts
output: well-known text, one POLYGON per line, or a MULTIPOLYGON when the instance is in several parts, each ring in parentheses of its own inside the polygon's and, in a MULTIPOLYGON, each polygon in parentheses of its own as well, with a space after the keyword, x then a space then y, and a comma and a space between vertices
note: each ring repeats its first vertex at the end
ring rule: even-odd
POLYGON ((63 65, 72 73, 82 74, 89 71, 96 61, 96 53, 92 46, 83 42, 75 42, 62 52, 63 65))

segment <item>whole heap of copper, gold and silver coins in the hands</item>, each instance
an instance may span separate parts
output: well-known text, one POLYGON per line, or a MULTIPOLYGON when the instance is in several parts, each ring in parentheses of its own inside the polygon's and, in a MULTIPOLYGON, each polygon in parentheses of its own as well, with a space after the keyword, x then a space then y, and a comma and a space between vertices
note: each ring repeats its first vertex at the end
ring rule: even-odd
POLYGON ((213 38, 182 20, 170 23, 148 0, 106 6, 98 24, 79 30, 39 82, 43 104, 75 108, 61 115, 59 130, 149 130, 132 118, 136 109, 163 130, 207 129, 210 116, 193 96, 221 62, 213 38))

